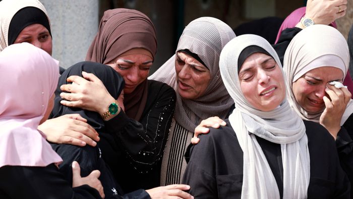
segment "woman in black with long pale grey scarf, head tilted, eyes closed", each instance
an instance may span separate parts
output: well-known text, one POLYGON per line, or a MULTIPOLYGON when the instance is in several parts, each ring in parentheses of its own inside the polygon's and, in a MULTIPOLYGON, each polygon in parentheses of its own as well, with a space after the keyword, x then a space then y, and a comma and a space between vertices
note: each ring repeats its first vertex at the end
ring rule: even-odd
POLYGON ((201 135, 193 147, 183 180, 191 194, 349 197, 332 137, 290 109, 279 58, 265 39, 241 35, 231 40, 220 55, 220 71, 236 108, 227 126, 201 135))

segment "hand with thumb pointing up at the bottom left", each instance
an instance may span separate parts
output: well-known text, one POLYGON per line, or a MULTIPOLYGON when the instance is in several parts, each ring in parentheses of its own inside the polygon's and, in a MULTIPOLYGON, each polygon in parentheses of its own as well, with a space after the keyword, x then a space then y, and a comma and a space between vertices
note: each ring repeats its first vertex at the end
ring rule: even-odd
POLYGON ((87 177, 81 177, 81 169, 78 162, 72 162, 72 187, 82 186, 84 184, 89 185, 92 188, 97 189, 100 196, 104 198, 103 186, 100 180, 98 180, 100 172, 98 170, 92 171, 87 177))

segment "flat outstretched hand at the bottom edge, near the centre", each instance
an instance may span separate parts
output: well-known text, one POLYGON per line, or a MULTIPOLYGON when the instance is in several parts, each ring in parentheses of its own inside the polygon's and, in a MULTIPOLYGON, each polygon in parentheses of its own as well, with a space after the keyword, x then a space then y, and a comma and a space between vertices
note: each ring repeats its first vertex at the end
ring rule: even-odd
POLYGON ((185 192, 189 190, 190 186, 185 184, 171 184, 167 186, 159 186, 156 188, 148 189, 146 192, 150 195, 152 199, 156 198, 184 198, 193 199, 194 196, 185 192))

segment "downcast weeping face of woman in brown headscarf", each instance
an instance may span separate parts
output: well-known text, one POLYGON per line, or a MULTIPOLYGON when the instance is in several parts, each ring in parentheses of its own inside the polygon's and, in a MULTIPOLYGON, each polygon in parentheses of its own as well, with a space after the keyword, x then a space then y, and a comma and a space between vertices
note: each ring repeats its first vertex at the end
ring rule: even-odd
MULTIPOLYGON (((151 53, 146 51, 146 54, 151 53)), ((147 79, 148 72, 152 66, 152 55, 148 56, 145 54, 132 54, 117 57, 111 64, 116 72, 123 76, 125 80, 124 93, 132 93, 138 85, 140 85, 145 79, 147 79)))

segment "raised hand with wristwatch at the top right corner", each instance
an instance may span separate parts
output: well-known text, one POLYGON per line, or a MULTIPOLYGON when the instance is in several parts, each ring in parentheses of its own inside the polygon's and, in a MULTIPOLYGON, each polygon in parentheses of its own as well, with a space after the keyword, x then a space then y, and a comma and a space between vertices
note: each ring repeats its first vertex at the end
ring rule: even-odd
POLYGON ((346 9, 347 0, 308 0, 305 17, 311 18, 315 24, 328 25, 343 17, 346 9))

